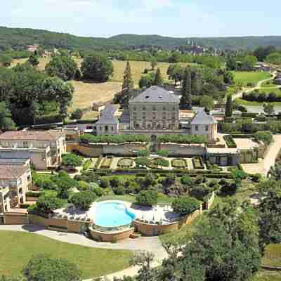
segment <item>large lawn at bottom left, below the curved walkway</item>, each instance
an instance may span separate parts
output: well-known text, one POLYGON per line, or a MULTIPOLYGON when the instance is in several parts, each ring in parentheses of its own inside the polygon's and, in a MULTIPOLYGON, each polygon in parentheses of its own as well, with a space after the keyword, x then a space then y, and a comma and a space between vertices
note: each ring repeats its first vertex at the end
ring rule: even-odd
POLYGON ((76 263, 85 279, 123 270, 132 256, 131 251, 81 247, 32 233, 1 230, 0 241, 0 275, 18 275, 35 254, 50 254, 76 263))

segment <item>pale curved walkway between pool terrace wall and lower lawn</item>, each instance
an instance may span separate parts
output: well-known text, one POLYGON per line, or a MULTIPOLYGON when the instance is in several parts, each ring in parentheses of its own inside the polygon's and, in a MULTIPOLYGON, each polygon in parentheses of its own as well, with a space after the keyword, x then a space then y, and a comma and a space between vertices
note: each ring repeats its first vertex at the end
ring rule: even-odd
MULTIPOLYGON (((22 231, 26 233, 34 233, 38 235, 44 235, 54 240, 58 240, 60 242, 67 242, 70 244, 78 244, 80 246, 85 247, 93 247, 93 248, 100 248, 100 249, 126 249, 131 251, 150 251, 155 254, 155 261, 152 263, 152 266, 158 266, 163 259, 167 257, 167 253, 162 246, 158 237, 140 237, 138 239, 128 239, 123 240, 118 243, 105 243, 105 242, 96 242, 91 240, 84 235, 79 235, 75 233, 60 233, 53 230, 48 230, 42 226, 37 225, 24 225, 24 226, 0 226, 1 230, 10 230, 10 231, 22 231)), ((126 268, 122 271, 117 273, 112 273, 107 275, 107 280, 113 280, 113 277, 123 277, 124 275, 127 276, 134 276, 138 273, 138 266, 132 266, 130 268, 126 268)), ((90 281, 90 280, 86 280, 90 281)))

